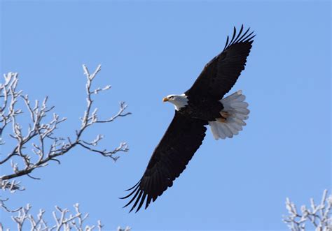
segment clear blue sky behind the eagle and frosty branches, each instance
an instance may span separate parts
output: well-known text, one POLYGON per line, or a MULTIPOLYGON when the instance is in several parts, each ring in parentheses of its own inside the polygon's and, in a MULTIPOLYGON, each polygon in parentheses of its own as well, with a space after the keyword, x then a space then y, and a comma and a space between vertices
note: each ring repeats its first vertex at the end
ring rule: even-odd
MULTIPOLYGON (((69 118, 60 135, 74 135, 85 109, 82 64, 102 64, 95 86, 112 85, 96 100, 100 114, 120 100, 132 112, 86 137, 104 134, 101 147, 126 141, 130 152, 113 163, 74 149, 36 170, 41 181, 22 177, 27 190, 8 206, 31 203, 50 216, 55 204, 79 202, 106 230, 286 230, 286 197, 308 204, 331 188, 330 1, 1 1, 1 74, 20 73, 32 99, 49 96, 69 118), (139 180, 174 114, 162 97, 191 87, 241 24, 257 34, 232 90, 247 96, 247 126, 219 141, 208 130, 174 186, 128 214, 118 197, 139 180)), ((1 221, 14 229, 2 211, 1 221)))

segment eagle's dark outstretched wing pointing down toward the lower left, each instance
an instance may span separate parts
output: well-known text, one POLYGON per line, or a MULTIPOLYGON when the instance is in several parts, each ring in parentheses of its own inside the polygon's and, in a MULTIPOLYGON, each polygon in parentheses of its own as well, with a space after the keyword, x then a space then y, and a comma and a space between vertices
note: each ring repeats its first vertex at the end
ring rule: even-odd
POLYGON ((146 200, 145 208, 147 208, 151 200, 154 202, 172 186, 174 179, 184 171, 202 144, 207 130, 206 124, 206 121, 191 119, 175 111, 172 123, 153 151, 143 177, 127 190, 130 191, 129 195, 121 198, 131 198, 125 207, 134 203, 130 211, 135 207, 136 211, 139 211, 146 200))

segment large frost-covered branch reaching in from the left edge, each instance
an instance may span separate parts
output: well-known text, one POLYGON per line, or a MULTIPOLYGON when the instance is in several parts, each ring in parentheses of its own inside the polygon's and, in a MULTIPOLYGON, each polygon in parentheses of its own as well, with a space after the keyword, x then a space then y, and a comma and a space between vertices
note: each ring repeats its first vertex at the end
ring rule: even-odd
MULTIPOLYGON (((103 88, 92 89, 92 82, 95 80, 97 73, 101 70, 101 66, 97 66, 96 70, 90 74, 88 68, 83 65, 84 75, 86 77, 86 102, 87 106, 83 117, 81 117, 81 127, 76 130, 74 137, 58 137, 55 131, 60 124, 67 118, 61 118, 58 114, 51 111, 53 106, 47 105, 48 96, 39 102, 35 100, 32 103, 28 95, 22 95, 22 91, 18 90, 18 73, 8 73, 4 75, 4 82, 0 83, 0 146, 6 145, 4 141, 5 129, 10 129, 9 137, 15 140, 15 144, 8 154, 0 152, 0 166, 6 163, 11 164, 12 172, 7 172, 0 176, 0 188, 15 192, 24 190, 20 181, 15 180, 18 177, 28 176, 32 179, 39 179, 32 176, 32 172, 39 167, 46 167, 50 161, 60 163, 59 157, 67 154, 76 146, 83 147, 89 151, 101 154, 102 156, 111 158, 116 161, 119 156, 116 154, 128 151, 127 144, 121 142, 118 147, 113 150, 99 149, 97 146, 99 141, 103 139, 103 135, 97 135, 95 140, 83 140, 82 136, 87 129, 97 123, 109 123, 118 117, 125 117, 130 112, 125 112, 127 105, 120 102, 118 112, 108 119, 99 119, 97 115, 97 107, 93 107, 92 98, 101 91, 106 91, 111 87, 107 85, 103 88), (23 113, 22 108, 18 108, 18 102, 22 100, 25 105, 25 111, 29 114, 30 124, 27 128, 23 128, 18 122, 18 116, 23 113), (51 116, 50 116, 51 115, 51 116), (48 121, 46 121, 48 120, 48 121), (2 135, 2 136, 1 136, 2 135), (31 145, 31 148, 28 148, 31 145), (19 161, 18 161, 19 160, 19 161), (22 166, 23 165, 23 166, 22 166)), ((4 204, 5 200, 1 200, 4 204)))

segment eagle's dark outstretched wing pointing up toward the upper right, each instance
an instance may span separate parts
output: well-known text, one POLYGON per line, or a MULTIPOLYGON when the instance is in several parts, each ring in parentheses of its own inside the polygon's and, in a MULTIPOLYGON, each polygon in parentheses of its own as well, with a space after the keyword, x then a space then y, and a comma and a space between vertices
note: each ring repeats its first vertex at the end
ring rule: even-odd
MULTIPOLYGON (((249 28, 250 29, 250 28, 249 28)), ((255 35, 249 29, 242 33, 243 25, 239 33, 234 33, 229 41, 227 36, 223 52, 209 61, 200 73, 191 89, 185 92, 189 100, 192 97, 208 96, 220 100, 234 86, 247 61, 251 44, 255 35)))

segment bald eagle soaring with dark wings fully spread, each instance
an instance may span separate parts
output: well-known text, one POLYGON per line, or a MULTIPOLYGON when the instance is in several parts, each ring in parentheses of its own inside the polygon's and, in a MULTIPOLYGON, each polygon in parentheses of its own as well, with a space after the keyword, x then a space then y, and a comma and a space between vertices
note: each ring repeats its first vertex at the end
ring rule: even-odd
MULTIPOLYGON (((249 28, 250 29, 250 28, 249 28)), ((243 32, 243 25, 234 32, 229 40, 227 36, 223 51, 209 61, 200 73, 191 89, 184 94, 169 95, 162 99, 172 103, 175 115, 167 128, 165 135, 157 145, 143 177, 132 188, 130 198, 125 204, 132 205, 130 211, 137 211, 146 202, 145 209, 151 201, 155 201, 173 181, 184 171, 195 151, 200 147, 205 137, 205 126, 209 125, 216 140, 233 137, 248 119, 248 103, 244 102, 242 91, 223 98, 233 87, 247 61, 254 31, 243 32)))

